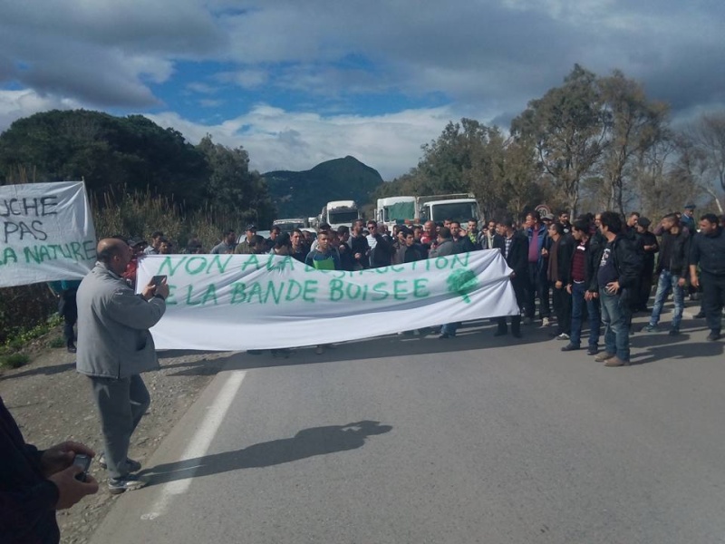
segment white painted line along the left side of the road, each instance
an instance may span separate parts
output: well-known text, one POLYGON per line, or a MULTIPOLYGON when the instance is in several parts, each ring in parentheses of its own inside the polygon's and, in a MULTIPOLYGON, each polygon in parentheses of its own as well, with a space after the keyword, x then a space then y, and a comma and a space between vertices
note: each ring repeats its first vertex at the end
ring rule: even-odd
MULTIPOLYGON (((179 457, 179 462, 196 459, 207 452, 211 441, 217 434, 219 425, 224 421, 224 417, 227 415, 227 411, 232 405, 232 401, 234 401, 234 397, 237 395, 237 391, 239 391, 239 387, 246 375, 247 372, 243 370, 232 372, 227 382, 222 386, 214 403, 209 406, 207 416, 199 424, 198 430, 191 439, 189 446, 179 457)), ((156 500, 149 513, 141 516, 141 520, 155 520, 163 516, 169 509, 171 500, 189 489, 189 485, 191 485, 191 480, 194 478, 197 469, 198 465, 185 466, 184 471, 188 473, 185 478, 163 484, 163 487, 160 489, 159 499, 156 500)))

